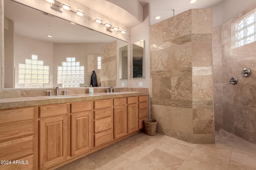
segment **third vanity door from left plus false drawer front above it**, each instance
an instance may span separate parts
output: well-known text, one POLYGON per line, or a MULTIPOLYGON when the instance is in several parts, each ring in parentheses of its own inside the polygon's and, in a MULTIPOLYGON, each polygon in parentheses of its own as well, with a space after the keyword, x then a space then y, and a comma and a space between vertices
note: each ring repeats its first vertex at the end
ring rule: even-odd
POLYGON ((114 98, 114 139, 127 134, 127 98, 114 98))

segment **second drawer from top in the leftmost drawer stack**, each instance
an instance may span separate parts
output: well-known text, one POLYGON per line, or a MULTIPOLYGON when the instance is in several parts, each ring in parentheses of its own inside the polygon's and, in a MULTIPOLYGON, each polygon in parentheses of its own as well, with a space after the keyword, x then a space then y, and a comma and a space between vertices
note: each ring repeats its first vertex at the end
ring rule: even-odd
POLYGON ((0 142, 33 135, 33 122, 0 127, 0 142))

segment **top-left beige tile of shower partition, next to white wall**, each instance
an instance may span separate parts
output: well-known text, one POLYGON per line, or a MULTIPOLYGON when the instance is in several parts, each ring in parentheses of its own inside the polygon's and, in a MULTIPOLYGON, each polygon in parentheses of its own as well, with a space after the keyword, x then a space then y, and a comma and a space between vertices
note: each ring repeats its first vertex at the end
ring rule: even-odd
POLYGON ((156 44, 169 41, 171 38, 170 18, 150 26, 150 43, 156 44), (161 28, 161 29, 159 29, 161 28))

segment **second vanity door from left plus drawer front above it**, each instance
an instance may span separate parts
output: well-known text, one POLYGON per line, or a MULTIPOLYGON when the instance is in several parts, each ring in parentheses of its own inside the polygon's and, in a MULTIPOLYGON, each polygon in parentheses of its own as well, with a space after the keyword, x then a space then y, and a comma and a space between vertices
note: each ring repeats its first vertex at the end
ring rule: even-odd
POLYGON ((92 103, 71 103, 71 156, 92 148, 92 103))

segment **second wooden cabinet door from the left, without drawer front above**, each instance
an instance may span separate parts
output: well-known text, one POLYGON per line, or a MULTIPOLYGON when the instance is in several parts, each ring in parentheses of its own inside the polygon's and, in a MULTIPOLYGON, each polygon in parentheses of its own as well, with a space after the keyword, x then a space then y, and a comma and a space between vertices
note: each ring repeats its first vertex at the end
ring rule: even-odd
POLYGON ((91 111, 71 115, 71 156, 92 148, 91 111))

